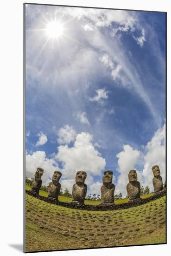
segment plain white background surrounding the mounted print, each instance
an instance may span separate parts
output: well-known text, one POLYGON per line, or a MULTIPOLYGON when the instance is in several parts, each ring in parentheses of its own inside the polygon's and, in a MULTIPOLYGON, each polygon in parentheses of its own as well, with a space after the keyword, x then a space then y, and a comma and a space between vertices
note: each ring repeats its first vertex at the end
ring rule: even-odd
MULTIPOLYGON (((168 0, 36 0, 36 3, 167 12, 167 131, 171 131, 171 7, 168 0)), ((0 253, 23 243, 23 0, 0 3, 0 253)), ((157 99, 156 99, 157 100, 157 99)), ((168 255, 171 250, 171 135, 167 133, 167 245, 45 252, 42 255, 168 255)), ((36 255, 33 253, 32 255, 36 255)))

